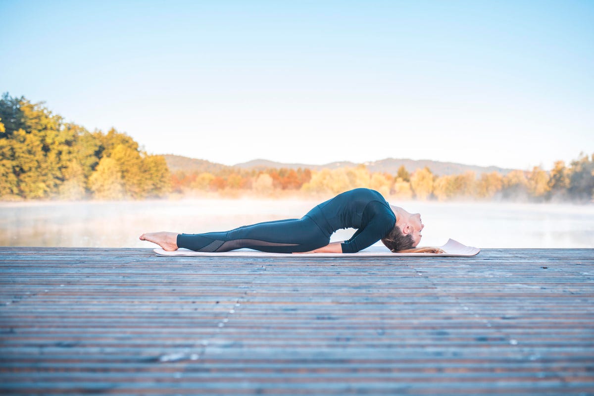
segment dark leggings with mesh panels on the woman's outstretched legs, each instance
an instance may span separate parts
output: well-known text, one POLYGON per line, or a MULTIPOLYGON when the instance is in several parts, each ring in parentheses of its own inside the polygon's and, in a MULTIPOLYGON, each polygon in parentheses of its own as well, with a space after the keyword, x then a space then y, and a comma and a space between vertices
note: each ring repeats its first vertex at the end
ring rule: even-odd
POLYGON ((180 234, 179 248, 197 252, 228 252, 249 248, 262 252, 308 252, 330 242, 330 235, 308 216, 264 221, 223 232, 180 234))

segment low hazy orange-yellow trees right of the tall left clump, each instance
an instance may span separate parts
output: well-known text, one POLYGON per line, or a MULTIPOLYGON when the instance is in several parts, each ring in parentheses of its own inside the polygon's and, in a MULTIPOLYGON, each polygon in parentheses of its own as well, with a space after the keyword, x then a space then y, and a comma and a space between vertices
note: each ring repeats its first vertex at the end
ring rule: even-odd
POLYGON ((225 172, 183 172, 172 175, 172 190, 179 194, 219 192, 238 195, 258 192, 274 195, 279 191, 304 194, 339 194, 352 188, 375 189, 385 197, 396 199, 507 200, 532 202, 588 202, 594 199, 594 154, 582 154, 565 166, 557 161, 550 172, 539 166, 532 170, 466 172, 461 175, 434 175, 428 167, 408 172, 401 166, 396 175, 369 172, 364 165, 339 169, 233 169, 225 172))

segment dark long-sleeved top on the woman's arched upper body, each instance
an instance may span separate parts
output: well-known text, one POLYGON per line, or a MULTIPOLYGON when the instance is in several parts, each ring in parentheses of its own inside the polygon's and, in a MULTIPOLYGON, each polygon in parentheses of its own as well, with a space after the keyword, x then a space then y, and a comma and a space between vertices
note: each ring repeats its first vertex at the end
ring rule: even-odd
POLYGON ((355 253, 368 248, 386 236, 396 224, 390 204, 377 191, 355 188, 318 205, 327 221, 328 230, 358 229, 349 240, 341 243, 343 253, 355 253))

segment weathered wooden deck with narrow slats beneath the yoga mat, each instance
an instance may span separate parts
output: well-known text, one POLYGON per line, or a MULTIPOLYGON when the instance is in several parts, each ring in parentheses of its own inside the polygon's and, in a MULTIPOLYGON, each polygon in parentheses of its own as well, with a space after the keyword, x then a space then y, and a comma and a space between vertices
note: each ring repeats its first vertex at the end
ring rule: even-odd
POLYGON ((4 394, 594 394, 594 249, 0 248, 4 394))

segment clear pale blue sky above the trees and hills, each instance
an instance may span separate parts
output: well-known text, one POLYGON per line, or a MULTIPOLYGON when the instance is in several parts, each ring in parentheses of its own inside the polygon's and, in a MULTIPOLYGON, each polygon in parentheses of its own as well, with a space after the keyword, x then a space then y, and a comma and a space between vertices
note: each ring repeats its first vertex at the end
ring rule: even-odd
POLYGON ((594 152, 594 1, 0 0, 0 91, 150 153, 528 169, 594 152))

